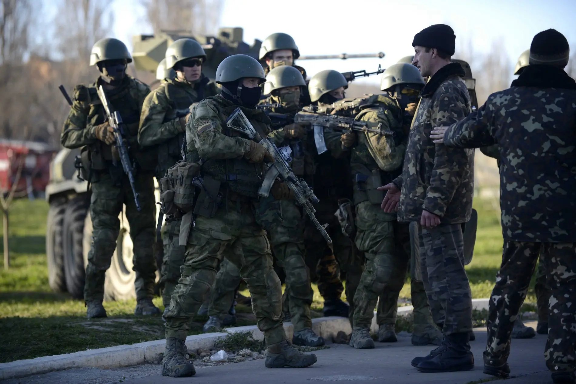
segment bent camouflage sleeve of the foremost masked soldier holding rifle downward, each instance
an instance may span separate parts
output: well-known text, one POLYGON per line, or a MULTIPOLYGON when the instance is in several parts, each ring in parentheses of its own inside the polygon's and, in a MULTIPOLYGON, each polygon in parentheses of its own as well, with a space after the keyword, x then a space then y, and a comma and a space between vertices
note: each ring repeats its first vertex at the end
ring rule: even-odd
POLYGON ((187 137, 194 140, 198 155, 204 159, 241 158, 250 148, 250 140, 222 134, 218 111, 206 101, 194 109, 187 124, 187 137))

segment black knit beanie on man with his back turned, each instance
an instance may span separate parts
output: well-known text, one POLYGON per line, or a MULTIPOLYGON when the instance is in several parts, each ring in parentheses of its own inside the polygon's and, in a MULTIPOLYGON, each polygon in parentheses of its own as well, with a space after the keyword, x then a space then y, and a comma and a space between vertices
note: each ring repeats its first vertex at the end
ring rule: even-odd
POLYGON ((570 57, 570 45, 562 33, 547 29, 537 33, 530 44, 530 64, 546 64, 566 67, 570 57))

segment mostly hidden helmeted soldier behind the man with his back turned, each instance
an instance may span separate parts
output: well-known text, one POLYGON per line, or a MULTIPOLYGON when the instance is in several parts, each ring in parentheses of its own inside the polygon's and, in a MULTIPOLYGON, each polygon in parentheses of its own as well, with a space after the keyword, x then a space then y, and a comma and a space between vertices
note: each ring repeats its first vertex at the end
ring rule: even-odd
MULTIPOLYGON (((520 75, 525 67, 529 65, 530 50, 522 52, 516 63, 514 69, 515 75, 520 75)), ((500 168, 500 151, 498 145, 489 147, 481 147, 480 151, 488 157, 495 158, 500 168)), ((534 286, 536 292, 536 307, 538 309, 538 324, 536 325, 536 332, 539 334, 548 334, 548 301, 552 294, 551 288, 546 281, 546 267, 542 258, 539 258, 538 267, 536 268, 536 284, 534 286)), ((512 330, 512 339, 528 339, 534 337, 535 332, 532 327, 525 326, 522 322, 522 317, 518 316, 514 321, 514 329, 512 330)))

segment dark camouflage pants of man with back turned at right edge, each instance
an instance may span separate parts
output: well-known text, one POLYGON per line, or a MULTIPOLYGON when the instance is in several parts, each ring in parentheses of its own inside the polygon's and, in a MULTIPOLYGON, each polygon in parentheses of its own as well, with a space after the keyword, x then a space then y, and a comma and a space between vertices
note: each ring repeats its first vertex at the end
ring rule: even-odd
POLYGON ((544 359, 548 369, 553 372, 574 371, 576 243, 505 240, 502 265, 488 304, 488 342, 484 362, 499 365, 508 359, 510 334, 526 297, 539 253, 547 268, 548 283, 552 289, 544 359))

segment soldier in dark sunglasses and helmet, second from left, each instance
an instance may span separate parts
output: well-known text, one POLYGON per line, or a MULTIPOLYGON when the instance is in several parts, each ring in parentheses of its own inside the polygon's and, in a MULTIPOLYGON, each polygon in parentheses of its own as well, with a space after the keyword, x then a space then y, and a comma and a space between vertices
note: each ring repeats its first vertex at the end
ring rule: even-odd
MULTIPOLYGON (((158 180, 164 177, 168 168, 182 159, 185 116, 190 113, 191 104, 218 93, 215 83, 202 74, 206 54, 197 41, 176 40, 166 50, 165 60, 166 69, 174 70, 176 78, 165 78, 146 97, 138 131, 138 143, 145 148, 155 147, 158 151, 158 180)), ((164 257, 160 284, 164 307, 170 304, 170 297, 180 278, 180 265, 184 263, 185 250, 179 246, 180 223, 180 218, 171 218, 162 228, 164 257)))

